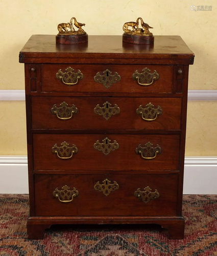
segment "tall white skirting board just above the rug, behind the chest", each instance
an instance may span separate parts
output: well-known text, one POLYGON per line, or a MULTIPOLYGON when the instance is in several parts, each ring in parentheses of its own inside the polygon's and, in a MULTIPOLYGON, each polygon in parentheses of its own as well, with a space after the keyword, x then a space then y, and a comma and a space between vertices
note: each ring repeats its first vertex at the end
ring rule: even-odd
MULTIPOLYGON (((217 194, 217 156, 185 157, 183 194, 217 194)), ((26 156, 0 156, 0 194, 28 194, 26 156)))

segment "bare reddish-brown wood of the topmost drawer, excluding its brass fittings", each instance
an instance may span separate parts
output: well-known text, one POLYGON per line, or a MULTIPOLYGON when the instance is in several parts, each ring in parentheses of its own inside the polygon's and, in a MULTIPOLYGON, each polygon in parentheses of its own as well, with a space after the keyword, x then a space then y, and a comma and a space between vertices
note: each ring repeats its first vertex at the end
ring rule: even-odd
POLYGON ((71 63, 66 64, 43 64, 41 65, 41 90, 42 92, 119 92, 119 93, 172 93, 173 88, 173 66, 163 65, 82 65, 71 63), (61 80, 57 79, 56 74, 61 69, 71 67, 75 71, 81 71, 84 75, 74 86, 67 86, 61 80), (156 70, 159 74, 159 79, 154 81, 150 86, 140 86, 136 80, 133 79, 133 73, 138 70, 142 73, 142 69, 148 68, 150 73, 156 70), (120 76, 120 81, 113 83, 108 89, 102 83, 95 82, 94 76, 98 72, 105 70, 112 72, 112 75, 117 72, 120 76))

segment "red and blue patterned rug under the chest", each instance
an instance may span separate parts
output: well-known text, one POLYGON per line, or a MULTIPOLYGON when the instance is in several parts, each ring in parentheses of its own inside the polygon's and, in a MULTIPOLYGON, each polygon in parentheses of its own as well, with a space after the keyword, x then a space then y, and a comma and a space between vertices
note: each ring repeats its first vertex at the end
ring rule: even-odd
POLYGON ((217 195, 184 196, 184 240, 158 225, 57 225, 28 240, 28 195, 0 195, 1 256, 217 255, 217 195))

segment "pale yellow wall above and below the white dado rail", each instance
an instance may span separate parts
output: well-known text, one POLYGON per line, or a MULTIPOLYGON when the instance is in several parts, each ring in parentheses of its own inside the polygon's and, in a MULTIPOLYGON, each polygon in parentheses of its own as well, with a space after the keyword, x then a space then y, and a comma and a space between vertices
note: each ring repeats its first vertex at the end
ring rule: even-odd
MULTIPOLYGON (((212 6, 212 11, 191 11, 192 4, 188 0, 2 0, 0 90, 24 89, 19 51, 32 34, 57 34, 57 25, 72 16, 86 24, 89 35, 122 35, 123 24, 139 16, 154 27, 154 35, 180 35, 196 54, 189 89, 217 90, 216 1, 200 3, 212 6)), ((25 155, 25 102, 2 101, 0 107, 0 155, 25 155)), ((217 155, 216 112, 217 101, 189 102, 186 155, 217 155)))

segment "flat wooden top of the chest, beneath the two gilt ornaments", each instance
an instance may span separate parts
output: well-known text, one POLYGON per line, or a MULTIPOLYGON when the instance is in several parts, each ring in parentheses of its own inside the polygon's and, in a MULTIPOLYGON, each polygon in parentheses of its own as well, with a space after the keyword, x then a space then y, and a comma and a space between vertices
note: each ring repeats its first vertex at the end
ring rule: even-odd
POLYGON ((178 59, 192 64, 194 53, 180 36, 155 36, 154 45, 135 45, 123 42, 122 36, 91 35, 87 43, 58 45, 55 35, 32 35, 20 51, 19 62, 42 63, 44 58, 57 57, 178 59))

